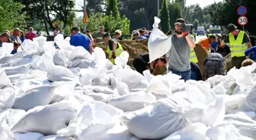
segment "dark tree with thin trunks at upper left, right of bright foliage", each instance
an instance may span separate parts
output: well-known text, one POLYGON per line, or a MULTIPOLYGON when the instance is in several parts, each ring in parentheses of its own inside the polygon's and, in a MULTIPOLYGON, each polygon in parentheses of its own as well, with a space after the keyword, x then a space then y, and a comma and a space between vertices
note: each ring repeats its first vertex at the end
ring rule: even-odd
POLYGON ((65 28, 68 24, 72 24, 75 17, 72 11, 75 0, 21 0, 21 3, 25 5, 22 11, 30 16, 31 21, 43 20, 48 35, 48 26, 52 30, 55 28, 53 22, 63 23, 62 28, 65 28))

